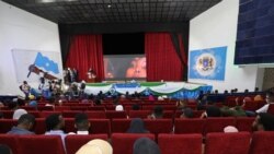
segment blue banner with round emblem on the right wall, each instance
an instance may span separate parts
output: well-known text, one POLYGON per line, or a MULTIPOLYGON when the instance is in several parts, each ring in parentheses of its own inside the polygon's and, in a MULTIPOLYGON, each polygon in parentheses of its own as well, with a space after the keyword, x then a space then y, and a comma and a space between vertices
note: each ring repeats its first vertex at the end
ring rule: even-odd
POLYGON ((192 50, 189 79, 225 80, 227 47, 192 50))

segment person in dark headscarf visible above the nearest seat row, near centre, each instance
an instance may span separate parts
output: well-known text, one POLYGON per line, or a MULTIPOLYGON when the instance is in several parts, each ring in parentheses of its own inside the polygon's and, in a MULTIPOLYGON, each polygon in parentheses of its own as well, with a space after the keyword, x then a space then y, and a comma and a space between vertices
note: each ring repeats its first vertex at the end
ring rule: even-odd
POLYGON ((132 120, 127 133, 148 133, 149 131, 145 128, 145 123, 140 118, 135 118, 132 120))

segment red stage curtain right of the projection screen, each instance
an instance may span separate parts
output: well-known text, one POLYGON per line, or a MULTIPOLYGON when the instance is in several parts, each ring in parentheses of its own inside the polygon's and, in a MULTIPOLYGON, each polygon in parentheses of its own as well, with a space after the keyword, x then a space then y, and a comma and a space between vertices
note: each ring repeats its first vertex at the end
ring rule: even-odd
POLYGON ((183 67, 169 33, 147 33, 145 52, 147 81, 182 81, 183 67))

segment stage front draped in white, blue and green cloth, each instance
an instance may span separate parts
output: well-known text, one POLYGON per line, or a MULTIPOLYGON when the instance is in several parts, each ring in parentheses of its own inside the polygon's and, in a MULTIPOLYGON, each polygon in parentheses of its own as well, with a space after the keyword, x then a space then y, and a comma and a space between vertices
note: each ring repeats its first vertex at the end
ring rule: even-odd
POLYGON ((145 93, 167 95, 172 98, 196 98, 199 91, 212 91, 212 85, 187 82, 127 82, 127 83, 87 83, 85 93, 96 95, 100 91, 126 94, 145 93))

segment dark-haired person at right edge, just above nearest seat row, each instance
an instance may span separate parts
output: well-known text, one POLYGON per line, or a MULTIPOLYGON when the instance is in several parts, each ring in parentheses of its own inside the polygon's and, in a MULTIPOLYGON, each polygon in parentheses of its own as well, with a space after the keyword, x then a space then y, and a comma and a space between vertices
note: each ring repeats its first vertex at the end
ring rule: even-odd
POLYGON ((274 131, 274 116, 267 112, 260 112, 252 123, 254 131, 274 131))

